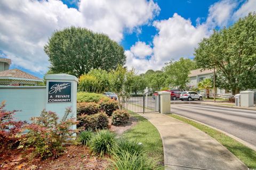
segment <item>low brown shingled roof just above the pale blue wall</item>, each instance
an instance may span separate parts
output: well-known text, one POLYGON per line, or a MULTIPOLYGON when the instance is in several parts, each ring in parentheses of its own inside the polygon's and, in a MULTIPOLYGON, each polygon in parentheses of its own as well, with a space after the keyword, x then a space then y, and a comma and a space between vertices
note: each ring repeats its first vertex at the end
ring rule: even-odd
POLYGON ((39 79, 34 75, 28 74, 19 69, 0 71, 0 79, 26 79, 31 81, 43 81, 42 79, 39 79))

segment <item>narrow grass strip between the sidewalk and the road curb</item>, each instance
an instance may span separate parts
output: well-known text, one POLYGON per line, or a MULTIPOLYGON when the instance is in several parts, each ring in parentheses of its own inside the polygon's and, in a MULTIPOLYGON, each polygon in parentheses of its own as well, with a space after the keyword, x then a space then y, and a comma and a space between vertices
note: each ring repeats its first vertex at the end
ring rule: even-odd
POLYGON ((221 143, 230 152, 232 152, 236 157, 238 157, 246 166, 249 168, 256 168, 256 152, 249 147, 246 147, 242 143, 236 141, 235 139, 229 137, 228 135, 221 133, 217 130, 209 128, 201 123, 188 120, 187 118, 170 114, 169 116, 177 118, 178 120, 195 126, 197 129, 209 134, 212 138, 221 143))

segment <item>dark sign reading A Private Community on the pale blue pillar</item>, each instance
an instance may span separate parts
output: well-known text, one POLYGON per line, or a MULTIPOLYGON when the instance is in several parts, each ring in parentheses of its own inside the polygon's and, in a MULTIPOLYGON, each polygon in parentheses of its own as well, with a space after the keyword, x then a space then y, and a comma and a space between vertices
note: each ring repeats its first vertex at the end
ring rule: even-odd
POLYGON ((47 101, 48 103, 71 102, 71 82, 50 81, 47 101))

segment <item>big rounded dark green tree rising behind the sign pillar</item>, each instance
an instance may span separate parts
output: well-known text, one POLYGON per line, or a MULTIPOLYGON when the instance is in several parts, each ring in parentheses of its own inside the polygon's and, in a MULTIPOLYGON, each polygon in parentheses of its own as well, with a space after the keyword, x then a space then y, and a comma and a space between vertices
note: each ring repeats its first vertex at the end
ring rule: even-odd
POLYGON ((110 71, 124 65, 124 49, 102 33, 70 27, 55 31, 44 46, 54 73, 79 77, 92 69, 110 71))

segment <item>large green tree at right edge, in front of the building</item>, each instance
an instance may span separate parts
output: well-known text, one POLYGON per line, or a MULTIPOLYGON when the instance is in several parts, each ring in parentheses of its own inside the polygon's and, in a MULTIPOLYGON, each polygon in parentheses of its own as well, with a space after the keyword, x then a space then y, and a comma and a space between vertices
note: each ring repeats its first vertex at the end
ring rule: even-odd
POLYGON ((215 67, 217 87, 233 95, 256 88, 256 14, 203 39, 195 49, 195 61, 203 69, 215 67))

